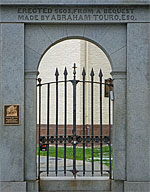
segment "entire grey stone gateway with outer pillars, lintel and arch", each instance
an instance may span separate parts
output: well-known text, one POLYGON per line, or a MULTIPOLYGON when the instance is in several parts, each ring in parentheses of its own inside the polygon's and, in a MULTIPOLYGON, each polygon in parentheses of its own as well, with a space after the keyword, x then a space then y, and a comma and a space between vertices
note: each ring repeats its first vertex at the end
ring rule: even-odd
POLYGON ((38 191, 34 163, 38 63, 53 44, 62 39, 81 38, 102 48, 112 65, 112 191, 149 191, 149 0, 1 0, 0 5, 0 105, 19 104, 21 119, 20 125, 4 125, 0 107, 0 189, 38 191), (71 13, 78 10, 81 16, 77 20, 57 16, 62 8, 69 8, 71 13), (83 16, 83 10, 88 9, 90 17, 83 16), (44 15, 54 11, 55 19, 49 13, 51 19, 42 20, 40 10, 44 15), (102 16, 94 16, 97 12, 102 16))

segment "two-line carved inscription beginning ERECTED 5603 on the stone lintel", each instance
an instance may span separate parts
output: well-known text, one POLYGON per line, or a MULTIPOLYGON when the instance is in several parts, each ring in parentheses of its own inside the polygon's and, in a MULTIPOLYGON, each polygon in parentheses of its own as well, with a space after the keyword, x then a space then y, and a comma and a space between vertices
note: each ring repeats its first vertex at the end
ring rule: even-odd
POLYGON ((55 7, 20 7, 18 21, 135 21, 133 8, 55 8, 55 7))

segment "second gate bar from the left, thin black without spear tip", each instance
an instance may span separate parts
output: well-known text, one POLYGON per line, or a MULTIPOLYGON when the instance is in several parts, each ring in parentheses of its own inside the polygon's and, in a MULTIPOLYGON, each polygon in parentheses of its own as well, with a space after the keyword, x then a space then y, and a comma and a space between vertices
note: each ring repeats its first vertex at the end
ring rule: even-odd
MULTIPOLYGON (((47 84, 47 140, 49 140, 49 107, 50 107, 50 84, 47 84)), ((47 144, 49 142, 47 141, 47 144)), ((49 145, 47 145, 47 176, 49 175, 49 145)))

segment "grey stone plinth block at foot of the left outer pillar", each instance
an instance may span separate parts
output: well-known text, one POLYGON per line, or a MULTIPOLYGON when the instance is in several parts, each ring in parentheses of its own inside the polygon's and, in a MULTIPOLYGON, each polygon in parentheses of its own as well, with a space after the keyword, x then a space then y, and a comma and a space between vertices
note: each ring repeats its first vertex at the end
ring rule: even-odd
POLYGON ((1 192, 26 192, 26 182, 0 182, 1 192))

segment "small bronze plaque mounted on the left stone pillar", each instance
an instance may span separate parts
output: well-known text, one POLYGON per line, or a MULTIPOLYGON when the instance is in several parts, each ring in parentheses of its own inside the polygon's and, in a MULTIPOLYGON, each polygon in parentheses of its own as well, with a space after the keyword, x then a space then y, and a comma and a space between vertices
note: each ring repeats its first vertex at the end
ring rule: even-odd
POLYGON ((4 125, 20 125, 20 105, 4 105, 4 125))

